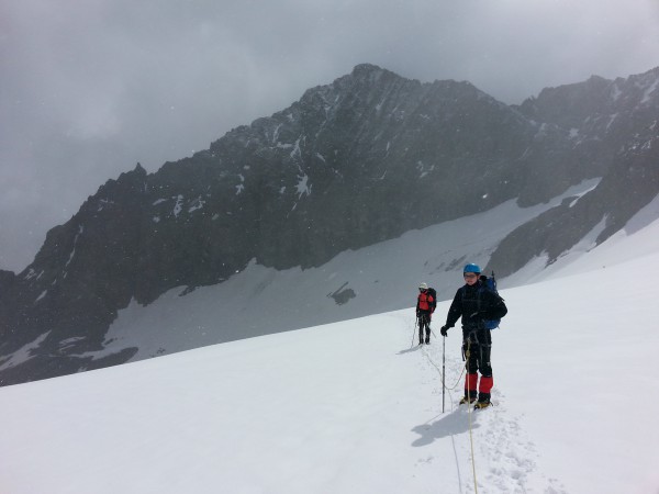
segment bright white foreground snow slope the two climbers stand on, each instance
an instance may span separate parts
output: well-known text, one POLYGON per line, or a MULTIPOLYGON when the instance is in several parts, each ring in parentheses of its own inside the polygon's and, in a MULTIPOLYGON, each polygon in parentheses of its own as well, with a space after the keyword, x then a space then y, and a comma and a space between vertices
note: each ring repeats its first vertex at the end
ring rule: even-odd
POLYGON ((502 291, 489 409, 454 328, 443 412, 409 307, 0 389, 0 492, 656 494, 659 222, 628 233, 502 291))

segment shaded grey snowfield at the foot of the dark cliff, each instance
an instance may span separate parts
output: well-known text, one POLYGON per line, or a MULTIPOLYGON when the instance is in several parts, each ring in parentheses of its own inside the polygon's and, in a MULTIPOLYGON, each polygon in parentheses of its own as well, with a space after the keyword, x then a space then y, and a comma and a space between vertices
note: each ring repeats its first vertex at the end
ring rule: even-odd
MULTIPOLYGON (((399 310, 414 300, 421 281, 432 282, 439 297, 453 297, 456 277, 460 277, 467 261, 487 265, 502 238, 514 228, 596 183, 596 179, 587 180, 547 204, 533 207, 523 209, 507 201, 473 216, 342 252, 319 268, 277 271, 252 262, 217 285, 192 292, 179 287, 147 306, 132 302, 110 327, 105 349, 85 356, 102 358, 137 347, 133 360, 141 360, 399 310), (348 291, 354 297, 346 296, 343 303, 332 296, 348 291)), ((534 272, 543 267, 538 263, 534 272)), ((501 285, 511 284, 502 280, 501 285)))

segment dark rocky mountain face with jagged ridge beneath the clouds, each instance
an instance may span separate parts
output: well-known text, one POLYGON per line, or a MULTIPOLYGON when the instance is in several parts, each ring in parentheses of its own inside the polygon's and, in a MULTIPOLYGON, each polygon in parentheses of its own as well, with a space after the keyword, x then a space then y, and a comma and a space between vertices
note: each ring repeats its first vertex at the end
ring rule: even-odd
POLYGON ((208 150, 153 175, 137 166, 53 228, 25 271, 0 273, 1 383, 125 361, 130 348, 85 353, 131 300, 221 283, 252 259, 320 266, 510 199, 546 202, 585 178, 604 177, 514 232, 491 263, 502 276, 556 258, 606 216, 604 238, 657 193, 658 79, 593 78, 507 106, 467 82, 361 65, 208 150))

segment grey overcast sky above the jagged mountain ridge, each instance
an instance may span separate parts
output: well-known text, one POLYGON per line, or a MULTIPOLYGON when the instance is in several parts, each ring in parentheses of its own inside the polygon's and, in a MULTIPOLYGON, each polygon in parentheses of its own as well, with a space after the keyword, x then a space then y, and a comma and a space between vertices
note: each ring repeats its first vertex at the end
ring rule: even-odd
POLYGON ((156 171, 370 63, 505 103, 659 65, 659 0, 0 0, 0 268, 156 171))

